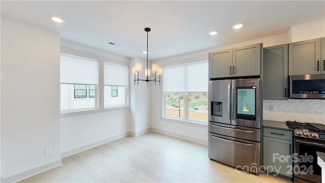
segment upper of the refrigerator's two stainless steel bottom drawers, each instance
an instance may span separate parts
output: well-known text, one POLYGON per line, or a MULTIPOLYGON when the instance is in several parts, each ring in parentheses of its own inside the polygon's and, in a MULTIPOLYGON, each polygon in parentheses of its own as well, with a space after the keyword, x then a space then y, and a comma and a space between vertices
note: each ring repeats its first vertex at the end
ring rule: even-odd
POLYGON ((260 142, 260 129, 226 125, 209 121, 209 132, 260 142))

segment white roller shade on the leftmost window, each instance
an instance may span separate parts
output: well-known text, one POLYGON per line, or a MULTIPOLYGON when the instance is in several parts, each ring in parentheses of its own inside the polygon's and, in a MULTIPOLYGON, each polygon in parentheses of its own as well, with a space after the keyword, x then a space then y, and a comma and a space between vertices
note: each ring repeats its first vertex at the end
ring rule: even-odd
POLYGON ((60 55, 60 82, 98 84, 98 62, 70 55, 60 55))

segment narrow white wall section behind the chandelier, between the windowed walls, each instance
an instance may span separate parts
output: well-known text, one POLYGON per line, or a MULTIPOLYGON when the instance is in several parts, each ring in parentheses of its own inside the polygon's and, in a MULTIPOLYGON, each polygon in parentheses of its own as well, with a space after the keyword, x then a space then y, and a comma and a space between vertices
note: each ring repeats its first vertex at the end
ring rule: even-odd
MULTIPOLYGON (((138 57, 131 58, 130 63, 130 90, 131 90, 131 120, 130 128, 133 136, 141 135, 150 130, 150 88, 154 87, 154 83, 150 82, 147 86, 147 82, 139 81, 134 84, 134 74, 132 74, 132 67, 135 63, 142 64, 142 72, 139 74, 140 79, 146 79, 145 67, 147 66, 146 60, 138 57)), ((150 66, 150 63, 149 63, 150 66)), ((151 76, 152 78, 152 76, 151 76)))

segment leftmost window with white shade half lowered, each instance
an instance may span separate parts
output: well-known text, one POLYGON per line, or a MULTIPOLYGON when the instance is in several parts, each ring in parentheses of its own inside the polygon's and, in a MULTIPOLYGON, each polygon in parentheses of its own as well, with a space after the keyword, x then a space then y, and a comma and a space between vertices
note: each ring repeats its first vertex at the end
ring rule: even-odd
POLYGON ((95 60, 60 55, 61 112, 98 108, 98 66, 95 60))

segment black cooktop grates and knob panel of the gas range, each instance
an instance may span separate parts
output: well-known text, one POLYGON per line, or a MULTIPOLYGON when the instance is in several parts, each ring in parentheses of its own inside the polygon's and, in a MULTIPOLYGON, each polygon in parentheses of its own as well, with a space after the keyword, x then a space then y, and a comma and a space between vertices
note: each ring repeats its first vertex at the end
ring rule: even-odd
POLYGON ((295 137, 325 141, 325 125, 297 121, 286 121, 286 125, 294 129, 295 137))

